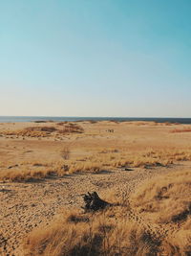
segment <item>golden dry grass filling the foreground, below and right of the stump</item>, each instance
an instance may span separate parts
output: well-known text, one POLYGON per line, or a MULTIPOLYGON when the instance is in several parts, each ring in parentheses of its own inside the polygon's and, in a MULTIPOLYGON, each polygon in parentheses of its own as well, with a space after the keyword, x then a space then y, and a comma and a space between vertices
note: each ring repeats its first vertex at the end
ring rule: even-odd
POLYGON ((24 241, 25 255, 190 255, 190 172, 164 175, 145 183, 133 195, 131 207, 126 198, 113 197, 109 201, 117 206, 95 214, 63 211, 48 227, 32 231, 24 241), (150 229, 129 219, 128 213, 137 211, 137 207, 150 229), (182 218, 187 209, 189 214, 182 218), (165 222, 169 230, 175 221, 179 222, 178 232, 156 237, 152 223, 158 221, 165 222))

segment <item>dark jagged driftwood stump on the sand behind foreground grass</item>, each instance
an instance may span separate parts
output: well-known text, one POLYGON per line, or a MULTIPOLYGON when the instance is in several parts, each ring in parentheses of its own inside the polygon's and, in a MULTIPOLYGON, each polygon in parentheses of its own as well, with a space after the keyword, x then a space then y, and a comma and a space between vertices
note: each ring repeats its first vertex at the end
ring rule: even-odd
POLYGON ((88 192, 88 194, 83 196, 83 199, 85 202, 85 207, 83 207, 83 209, 87 212, 102 210, 107 206, 112 205, 111 203, 99 198, 96 192, 88 192))

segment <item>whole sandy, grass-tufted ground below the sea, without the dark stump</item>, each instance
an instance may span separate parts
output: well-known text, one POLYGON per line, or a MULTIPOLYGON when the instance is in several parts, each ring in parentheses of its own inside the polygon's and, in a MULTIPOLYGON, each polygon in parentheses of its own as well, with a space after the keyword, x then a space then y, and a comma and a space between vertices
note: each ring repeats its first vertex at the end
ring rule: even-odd
POLYGON ((189 128, 2 124, 1 254, 190 255, 189 128), (115 206, 84 214, 88 191, 115 206))

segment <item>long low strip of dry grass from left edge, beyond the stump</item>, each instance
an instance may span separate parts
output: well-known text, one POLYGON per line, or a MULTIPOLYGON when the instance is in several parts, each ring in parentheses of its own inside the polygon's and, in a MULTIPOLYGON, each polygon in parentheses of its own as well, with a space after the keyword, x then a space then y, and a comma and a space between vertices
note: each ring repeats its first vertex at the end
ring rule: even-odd
POLYGON ((8 168, 0 168, 0 180, 9 182, 22 182, 39 180, 49 177, 64 176, 69 174, 90 172, 98 173, 105 170, 101 164, 90 161, 78 162, 70 160, 51 161, 51 162, 23 162, 8 168))

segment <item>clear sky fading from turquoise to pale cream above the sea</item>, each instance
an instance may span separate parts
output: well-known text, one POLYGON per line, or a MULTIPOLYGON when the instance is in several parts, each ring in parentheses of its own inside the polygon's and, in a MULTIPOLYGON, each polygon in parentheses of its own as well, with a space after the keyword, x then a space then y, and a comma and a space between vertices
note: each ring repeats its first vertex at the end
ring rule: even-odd
POLYGON ((191 117, 190 0, 0 0, 0 115, 191 117))

